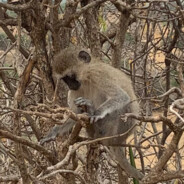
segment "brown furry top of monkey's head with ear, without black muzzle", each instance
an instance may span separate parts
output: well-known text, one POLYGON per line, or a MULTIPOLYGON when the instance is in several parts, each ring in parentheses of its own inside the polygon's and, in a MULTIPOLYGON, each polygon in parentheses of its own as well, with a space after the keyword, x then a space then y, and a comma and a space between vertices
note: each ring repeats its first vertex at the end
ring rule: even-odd
POLYGON ((90 61, 91 56, 87 51, 76 47, 66 48, 54 57, 53 74, 62 78, 69 72, 76 71, 77 68, 80 68, 80 65, 88 64, 90 61))

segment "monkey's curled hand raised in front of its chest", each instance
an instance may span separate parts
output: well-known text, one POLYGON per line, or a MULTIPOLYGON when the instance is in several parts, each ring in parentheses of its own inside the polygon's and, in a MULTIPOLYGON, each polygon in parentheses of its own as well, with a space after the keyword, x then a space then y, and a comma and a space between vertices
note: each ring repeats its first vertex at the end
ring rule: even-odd
POLYGON ((94 106, 91 100, 79 97, 74 100, 75 105, 81 113, 87 113, 89 116, 94 115, 94 106))

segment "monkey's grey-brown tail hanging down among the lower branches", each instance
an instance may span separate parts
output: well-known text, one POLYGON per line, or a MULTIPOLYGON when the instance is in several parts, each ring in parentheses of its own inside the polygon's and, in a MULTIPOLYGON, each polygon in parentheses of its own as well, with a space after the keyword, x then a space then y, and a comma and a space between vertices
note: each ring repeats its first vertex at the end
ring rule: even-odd
POLYGON ((136 168, 130 165, 128 160, 126 159, 124 152, 121 147, 110 147, 110 151, 115 160, 118 161, 120 167, 131 177, 141 180, 144 175, 139 172, 136 168))

